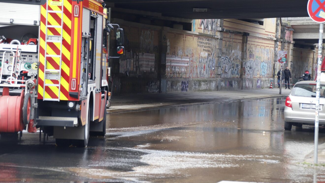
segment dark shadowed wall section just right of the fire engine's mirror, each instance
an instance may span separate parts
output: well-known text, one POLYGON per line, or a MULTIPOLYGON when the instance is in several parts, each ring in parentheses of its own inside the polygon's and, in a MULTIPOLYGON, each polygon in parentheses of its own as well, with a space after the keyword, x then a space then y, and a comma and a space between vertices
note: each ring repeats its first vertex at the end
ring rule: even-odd
POLYGON ((157 78, 160 27, 121 24, 124 29, 125 54, 120 58, 119 73, 157 78))

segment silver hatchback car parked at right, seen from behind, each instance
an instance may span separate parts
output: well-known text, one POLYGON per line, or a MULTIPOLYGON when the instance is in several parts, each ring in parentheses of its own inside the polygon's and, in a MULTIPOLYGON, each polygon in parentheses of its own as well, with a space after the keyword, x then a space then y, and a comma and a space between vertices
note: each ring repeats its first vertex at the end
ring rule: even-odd
MULTIPOLYGON (((319 125, 325 125, 325 82, 320 83, 319 125)), ((291 130, 292 125, 302 127, 315 124, 316 82, 300 81, 296 83, 286 98, 284 107, 284 129, 291 130)))

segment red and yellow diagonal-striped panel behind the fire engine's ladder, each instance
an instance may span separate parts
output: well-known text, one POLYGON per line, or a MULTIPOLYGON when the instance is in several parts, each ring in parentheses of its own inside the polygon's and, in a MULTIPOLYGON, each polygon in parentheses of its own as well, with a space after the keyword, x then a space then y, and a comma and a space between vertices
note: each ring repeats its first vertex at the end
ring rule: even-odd
MULTIPOLYGON (((38 86, 38 98, 58 98, 60 92, 60 100, 69 99, 69 83, 70 81, 70 58, 71 58, 71 17, 72 17, 72 5, 68 0, 59 0, 63 2, 64 11, 63 11, 63 30, 62 30, 62 63, 61 63, 61 87, 56 86, 46 86, 45 87, 45 96, 43 96, 43 86, 44 86, 44 64, 45 64, 45 33, 47 35, 60 35, 61 28, 48 28, 46 30, 46 4, 41 6, 41 22, 40 22, 40 66, 39 66, 39 86, 38 86)), ((51 2, 51 0, 49 1, 51 2)), ((61 11, 61 6, 48 6, 49 10, 61 11)), ((48 16, 48 25, 61 25, 61 13, 47 13, 48 16)), ((61 45, 59 43, 47 43, 46 52, 48 55, 59 55, 61 45)), ((47 58, 47 68, 48 69, 59 69, 59 59, 58 58, 47 58)), ((58 84, 57 80, 46 80, 47 84, 58 84)))

